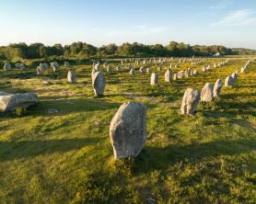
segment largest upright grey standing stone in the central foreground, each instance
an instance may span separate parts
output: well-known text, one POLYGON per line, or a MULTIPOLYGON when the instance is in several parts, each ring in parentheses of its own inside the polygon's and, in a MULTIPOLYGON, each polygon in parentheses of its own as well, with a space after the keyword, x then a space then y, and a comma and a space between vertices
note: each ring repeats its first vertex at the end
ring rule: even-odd
POLYGON ((138 102, 122 104, 110 127, 115 159, 137 156, 146 140, 146 108, 138 102))

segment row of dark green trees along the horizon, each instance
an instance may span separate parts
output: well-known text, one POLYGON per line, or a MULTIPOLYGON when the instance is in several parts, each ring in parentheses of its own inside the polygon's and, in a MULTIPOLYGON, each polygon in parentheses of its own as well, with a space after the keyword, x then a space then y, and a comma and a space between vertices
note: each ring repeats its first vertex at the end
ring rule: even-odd
MULTIPOLYGON (((52 57, 89 59, 89 58, 114 58, 114 57, 191 57, 191 56, 212 56, 216 52, 221 55, 232 55, 243 53, 253 53, 251 50, 229 49, 221 45, 194 45, 170 41, 167 46, 161 44, 145 45, 142 43, 123 43, 103 45, 95 47, 85 42, 74 42, 71 45, 54 44, 45 46, 42 43, 14 43, 0 47, 0 59, 18 61, 21 59, 42 59, 52 57)), ((255 53, 255 51, 254 51, 255 53)))

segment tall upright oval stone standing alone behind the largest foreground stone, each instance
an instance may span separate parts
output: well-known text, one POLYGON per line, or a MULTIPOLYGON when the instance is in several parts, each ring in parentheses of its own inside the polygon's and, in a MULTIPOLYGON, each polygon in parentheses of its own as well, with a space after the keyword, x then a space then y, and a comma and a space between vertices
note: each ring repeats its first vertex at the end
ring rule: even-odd
POLYGON ((92 87, 94 90, 95 96, 103 96, 106 86, 106 79, 104 74, 101 72, 96 72, 92 74, 92 87))

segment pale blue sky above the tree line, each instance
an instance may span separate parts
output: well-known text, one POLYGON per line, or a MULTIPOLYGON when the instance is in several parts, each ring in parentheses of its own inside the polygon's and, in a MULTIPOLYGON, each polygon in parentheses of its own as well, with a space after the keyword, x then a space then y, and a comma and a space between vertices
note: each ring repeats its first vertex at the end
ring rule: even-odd
POLYGON ((256 0, 0 0, 0 45, 123 42, 256 50, 256 0))

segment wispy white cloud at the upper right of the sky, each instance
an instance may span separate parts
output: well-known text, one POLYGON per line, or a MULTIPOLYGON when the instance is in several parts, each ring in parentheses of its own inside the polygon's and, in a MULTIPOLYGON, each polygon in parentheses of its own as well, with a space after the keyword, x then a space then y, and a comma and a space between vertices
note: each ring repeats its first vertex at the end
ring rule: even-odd
POLYGON ((222 20, 210 24, 212 27, 251 26, 256 24, 255 13, 250 9, 231 12, 222 20))

